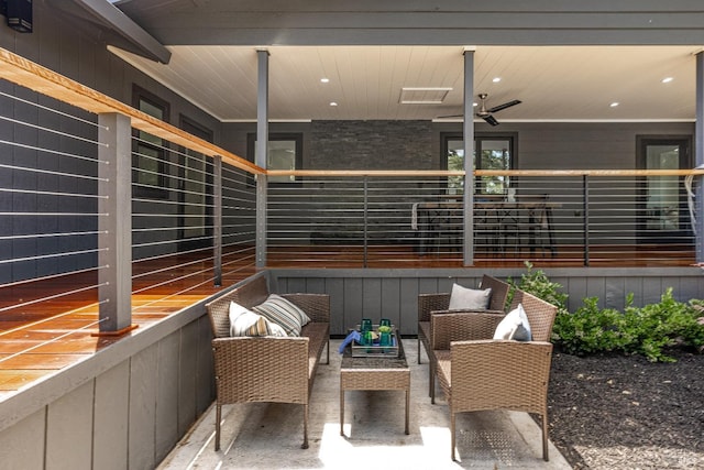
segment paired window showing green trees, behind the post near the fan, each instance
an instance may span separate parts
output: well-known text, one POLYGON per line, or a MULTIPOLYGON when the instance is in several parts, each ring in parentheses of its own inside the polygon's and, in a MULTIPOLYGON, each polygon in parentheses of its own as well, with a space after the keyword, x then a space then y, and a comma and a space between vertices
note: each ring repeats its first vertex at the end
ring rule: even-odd
MULTIPOLYGON (((474 136, 474 170, 510 170, 514 167, 513 134, 476 134, 474 136)), ((464 141, 462 134, 443 134, 443 163, 448 170, 464 170, 464 141)), ((464 190, 461 176, 448 177, 448 193, 464 190)), ((477 176, 477 194, 506 194, 509 187, 507 176, 477 176)))

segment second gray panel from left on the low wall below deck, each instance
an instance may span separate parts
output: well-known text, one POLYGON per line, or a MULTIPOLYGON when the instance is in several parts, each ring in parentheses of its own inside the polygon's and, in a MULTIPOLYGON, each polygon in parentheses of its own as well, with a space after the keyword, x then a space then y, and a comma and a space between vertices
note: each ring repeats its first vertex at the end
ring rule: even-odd
POLYGON ((48 406, 46 469, 89 469, 92 464, 94 382, 80 385, 48 406))

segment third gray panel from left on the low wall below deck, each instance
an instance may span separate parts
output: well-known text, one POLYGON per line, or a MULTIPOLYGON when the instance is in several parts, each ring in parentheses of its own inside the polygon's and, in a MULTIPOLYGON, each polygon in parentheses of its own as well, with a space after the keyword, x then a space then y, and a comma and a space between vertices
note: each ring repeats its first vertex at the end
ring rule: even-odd
POLYGON ((92 464, 100 470, 128 468, 130 362, 96 378, 92 464))

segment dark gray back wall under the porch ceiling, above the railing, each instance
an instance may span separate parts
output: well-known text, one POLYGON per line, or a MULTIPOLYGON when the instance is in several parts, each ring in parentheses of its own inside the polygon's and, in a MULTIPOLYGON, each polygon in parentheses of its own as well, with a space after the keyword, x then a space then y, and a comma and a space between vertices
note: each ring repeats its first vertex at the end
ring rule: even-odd
MULTIPOLYGON (((246 155, 253 123, 224 123, 226 143, 246 155)), ((270 132, 304 135, 304 170, 437 170, 442 133, 461 123, 429 121, 312 121, 273 123, 270 132)), ((638 135, 694 136, 694 122, 477 123, 475 133, 515 134, 516 170, 625 170, 636 167, 638 135)))

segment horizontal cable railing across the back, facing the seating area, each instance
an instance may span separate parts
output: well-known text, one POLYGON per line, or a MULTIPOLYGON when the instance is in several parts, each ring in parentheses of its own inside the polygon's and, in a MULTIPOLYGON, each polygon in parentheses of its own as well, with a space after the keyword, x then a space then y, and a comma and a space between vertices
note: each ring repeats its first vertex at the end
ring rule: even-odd
POLYGON ((477 171, 471 210, 461 188, 458 194, 448 186, 449 175, 292 174, 295 183, 268 188, 271 265, 457 266, 469 258, 469 264, 642 266, 695 260, 685 179, 697 171, 477 171), (487 185, 486 176, 503 186, 487 185))

